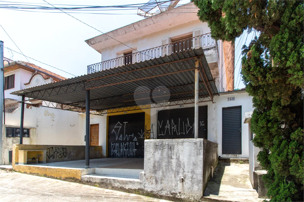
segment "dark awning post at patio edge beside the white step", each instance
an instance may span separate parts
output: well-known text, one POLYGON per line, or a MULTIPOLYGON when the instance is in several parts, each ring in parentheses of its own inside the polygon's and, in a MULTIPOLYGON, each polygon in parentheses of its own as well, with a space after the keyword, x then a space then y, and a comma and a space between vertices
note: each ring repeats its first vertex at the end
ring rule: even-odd
POLYGON ((85 167, 90 167, 90 90, 85 91, 85 167))

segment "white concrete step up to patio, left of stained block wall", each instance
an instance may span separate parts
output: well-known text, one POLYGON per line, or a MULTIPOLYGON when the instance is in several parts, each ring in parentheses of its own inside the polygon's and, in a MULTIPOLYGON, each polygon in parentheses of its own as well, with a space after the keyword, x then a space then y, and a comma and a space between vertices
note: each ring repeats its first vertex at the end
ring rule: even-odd
POLYGON ((95 168, 95 174, 113 177, 121 176, 122 178, 139 179, 141 169, 121 169, 121 168, 95 168), (125 176, 125 177, 123 177, 125 176))

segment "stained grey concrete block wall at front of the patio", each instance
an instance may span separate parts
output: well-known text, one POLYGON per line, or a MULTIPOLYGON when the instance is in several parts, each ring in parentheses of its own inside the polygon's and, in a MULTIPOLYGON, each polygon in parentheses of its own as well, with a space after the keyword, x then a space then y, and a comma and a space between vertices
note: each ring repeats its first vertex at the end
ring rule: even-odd
POLYGON ((145 140, 144 190, 199 200, 217 157, 218 145, 206 139, 145 140))

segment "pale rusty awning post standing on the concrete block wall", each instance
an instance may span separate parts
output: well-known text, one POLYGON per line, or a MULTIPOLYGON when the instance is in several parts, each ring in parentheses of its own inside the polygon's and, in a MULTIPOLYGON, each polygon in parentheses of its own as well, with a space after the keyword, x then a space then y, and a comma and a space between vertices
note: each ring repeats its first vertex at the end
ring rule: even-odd
POLYGON ((199 138, 199 59, 195 59, 194 84, 194 138, 199 138))

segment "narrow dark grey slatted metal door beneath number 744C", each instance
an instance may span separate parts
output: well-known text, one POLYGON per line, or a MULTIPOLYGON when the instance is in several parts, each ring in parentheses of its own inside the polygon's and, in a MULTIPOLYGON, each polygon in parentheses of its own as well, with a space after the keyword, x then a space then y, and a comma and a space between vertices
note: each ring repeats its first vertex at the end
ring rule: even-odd
POLYGON ((242 154, 242 106, 222 110, 222 154, 242 154))

